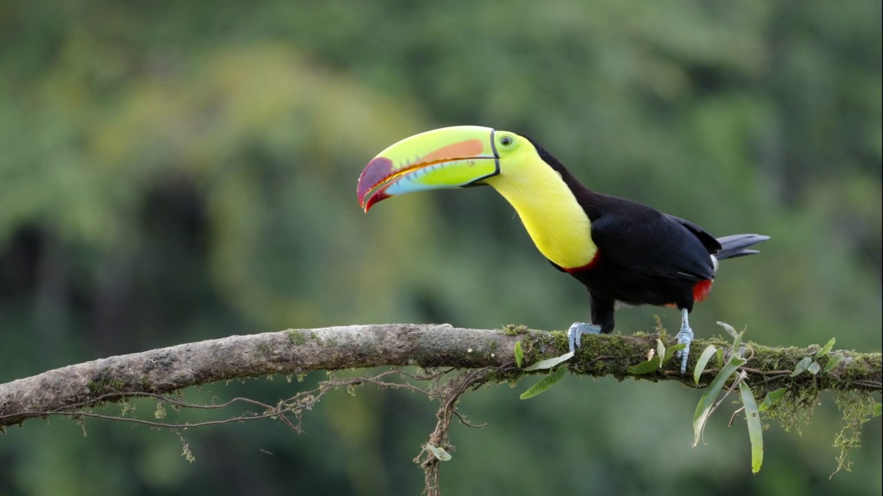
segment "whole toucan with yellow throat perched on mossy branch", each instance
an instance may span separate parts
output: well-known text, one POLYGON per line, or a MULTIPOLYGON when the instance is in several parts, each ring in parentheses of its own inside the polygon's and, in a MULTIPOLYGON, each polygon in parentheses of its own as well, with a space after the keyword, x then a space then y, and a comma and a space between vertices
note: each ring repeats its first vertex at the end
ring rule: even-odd
POLYGON ((422 132, 386 148, 358 178, 368 209, 410 192, 487 184, 507 199, 540 252, 585 284, 591 323, 568 330, 570 351, 582 334, 608 334, 614 311, 652 304, 681 311, 676 355, 687 370, 693 304, 711 290, 718 262, 757 253, 758 234, 715 238, 698 225, 636 201, 593 192, 535 140, 480 126, 422 132))

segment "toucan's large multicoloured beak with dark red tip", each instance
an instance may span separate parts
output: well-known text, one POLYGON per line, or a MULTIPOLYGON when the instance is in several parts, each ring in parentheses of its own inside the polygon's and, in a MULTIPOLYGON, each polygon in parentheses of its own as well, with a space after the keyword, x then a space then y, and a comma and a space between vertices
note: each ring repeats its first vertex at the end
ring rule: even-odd
POLYGON ((405 138, 368 162, 358 177, 358 202, 367 212, 391 196, 479 184, 497 174, 493 129, 445 127, 405 138))

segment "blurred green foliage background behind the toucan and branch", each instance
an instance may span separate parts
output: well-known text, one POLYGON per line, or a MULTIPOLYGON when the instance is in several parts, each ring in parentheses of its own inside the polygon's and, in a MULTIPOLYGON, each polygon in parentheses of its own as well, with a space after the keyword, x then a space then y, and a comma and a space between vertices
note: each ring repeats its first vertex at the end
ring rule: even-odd
MULTIPOLYGON (((443 125, 538 139, 584 184, 759 232, 691 322, 881 348, 881 4, 748 1, 63 3, 0 0, 0 382, 229 334, 373 322, 562 329, 585 290, 490 188, 362 214, 384 147, 443 125)), ((617 330, 677 312, 617 314, 617 330)), ((303 384, 215 384, 266 402, 303 384)), ((569 377, 467 395, 447 494, 879 494, 879 418, 834 471, 830 396, 774 425, 751 476, 741 420, 691 447, 699 392, 569 377)), ((144 404, 145 412, 152 409, 144 404)), ((185 419, 204 414, 185 413, 185 419)), ((418 395, 172 433, 64 419, 0 436, 0 494, 417 494, 418 395)))

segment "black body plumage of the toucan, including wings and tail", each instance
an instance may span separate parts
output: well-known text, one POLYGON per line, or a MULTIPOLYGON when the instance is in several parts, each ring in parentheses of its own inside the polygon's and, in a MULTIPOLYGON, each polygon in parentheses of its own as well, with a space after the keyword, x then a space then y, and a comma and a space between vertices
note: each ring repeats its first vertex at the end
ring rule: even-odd
POLYGON ((705 229, 630 199, 592 192, 531 139, 540 158, 557 171, 592 224, 595 258, 585 267, 559 267, 585 284, 592 324, 607 334, 617 304, 686 309, 701 301, 714 279, 715 259, 756 253, 769 237, 740 234, 716 239, 705 229))

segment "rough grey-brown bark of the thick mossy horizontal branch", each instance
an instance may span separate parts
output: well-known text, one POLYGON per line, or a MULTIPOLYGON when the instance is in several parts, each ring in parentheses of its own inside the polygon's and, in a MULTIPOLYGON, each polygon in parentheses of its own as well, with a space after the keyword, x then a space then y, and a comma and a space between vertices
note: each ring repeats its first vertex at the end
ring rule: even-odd
MULTIPOLYGON (((630 365, 645 361, 647 353, 656 349, 657 337, 655 334, 585 336, 583 348, 569 362, 570 370, 620 379, 633 376, 646 380, 681 380, 693 385, 691 372, 681 376, 675 371, 675 360, 655 372, 638 376, 628 371, 630 365)), ((91 405, 99 396, 106 398, 109 393, 162 394, 216 380, 275 373, 379 365, 501 367, 499 380, 515 380, 525 373, 510 366, 515 360, 517 341, 522 342, 525 349, 525 366, 562 355, 567 350, 562 333, 464 329, 448 325, 379 324, 234 335, 102 358, 0 384, 0 427, 20 424, 33 417, 73 413, 91 405), (509 367, 503 372, 505 365, 509 367)), ((674 344, 671 338, 664 341, 674 344)), ((727 345, 719 340, 694 342, 691 369, 709 343, 727 345)), ((771 377, 777 380, 787 377, 783 371, 793 370, 797 362, 811 357, 819 349, 749 346, 751 349, 744 354, 752 357, 745 366, 754 369, 750 382, 758 385, 765 384, 771 377)), ((804 373, 787 380, 797 387, 799 384, 795 383, 811 382, 811 386, 818 389, 880 390, 880 353, 835 350, 820 358, 820 365, 824 367, 836 354, 844 358, 832 371, 804 373)), ((713 372, 706 372, 707 380, 713 377, 713 372)), ((700 381, 699 387, 704 385, 700 381)))

